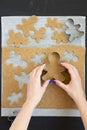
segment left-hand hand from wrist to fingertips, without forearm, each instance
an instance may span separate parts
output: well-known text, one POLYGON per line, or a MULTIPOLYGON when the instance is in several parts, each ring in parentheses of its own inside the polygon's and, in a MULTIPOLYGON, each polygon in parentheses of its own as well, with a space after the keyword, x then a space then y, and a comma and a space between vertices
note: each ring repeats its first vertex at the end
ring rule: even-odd
POLYGON ((49 84, 49 80, 45 81, 45 83, 41 86, 41 74, 44 69, 45 64, 36 67, 30 73, 30 79, 27 86, 27 99, 26 102, 30 103, 36 107, 40 102, 44 92, 49 84))

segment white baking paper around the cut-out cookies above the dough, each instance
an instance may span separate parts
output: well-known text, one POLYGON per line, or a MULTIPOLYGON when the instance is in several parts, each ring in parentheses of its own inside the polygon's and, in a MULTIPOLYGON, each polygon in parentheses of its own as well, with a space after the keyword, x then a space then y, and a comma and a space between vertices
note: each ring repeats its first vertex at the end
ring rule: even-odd
MULTIPOLYGON (((28 19, 28 16, 9 16, 9 17, 2 17, 2 47, 8 47, 7 39, 9 38, 8 32, 9 30, 13 29, 15 32, 22 32, 21 30, 17 29, 17 24, 22 23, 22 19, 28 19)), ((63 24, 62 28, 57 28, 58 32, 65 31, 65 21, 68 19, 73 19, 75 24, 80 24, 80 31, 84 32, 84 35, 81 38, 76 38, 72 42, 68 42, 69 45, 75 46, 85 46, 85 17, 83 16, 38 16, 38 22, 35 24, 36 29, 40 27, 45 27, 46 33, 45 38, 40 41, 39 44, 35 42, 35 40, 31 39, 29 36, 29 44, 28 45, 21 45, 22 47, 52 47, 57 45, 56 41, 53 40, 51 37, 54 31, 50 27, 46 27, 47 18, 57 18, 58 22, 63 24)), ((33 32, 30 31, 32 36, 33 32)), ((62 42, 60 44, 63 44, 62 42)))

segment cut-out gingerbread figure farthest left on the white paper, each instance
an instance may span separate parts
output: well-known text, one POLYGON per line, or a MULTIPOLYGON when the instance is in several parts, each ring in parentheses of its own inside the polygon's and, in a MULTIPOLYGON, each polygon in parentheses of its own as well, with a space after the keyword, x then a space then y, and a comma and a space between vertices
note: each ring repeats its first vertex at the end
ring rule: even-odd
POLYGON ((20 44, 28 44, 28 38, 22 36, 21 32, 14 33, 13 30, 9 31, 10 38, 7 40, 7 44, 14 44, 16 47, 20 47, 20 44))

